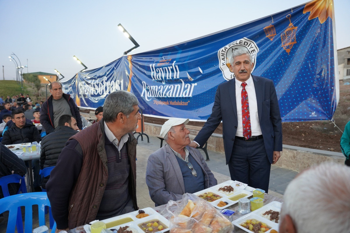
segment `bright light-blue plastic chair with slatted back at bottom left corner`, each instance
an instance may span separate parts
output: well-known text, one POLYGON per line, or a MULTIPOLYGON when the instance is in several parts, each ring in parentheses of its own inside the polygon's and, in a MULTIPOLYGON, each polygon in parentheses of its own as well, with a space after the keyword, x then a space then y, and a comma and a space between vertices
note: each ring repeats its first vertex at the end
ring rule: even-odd
MULTIPOLYGON (((15 232, 18 209, 25 206, 25 232, 33 232, 33 210, 32 206, 38 205, 39 226, 45 225, 45 206, 50 206, 46 192, 31 192, 16 194, 0 199, 0 213, 9 211, 6 232, 15 232)), ((22 222, 21 222, 22 223, 22 222)), ((18 233, 24 233, 23 229, 18 233)), ((51 232, 56 231, 56 224, 51 232)))

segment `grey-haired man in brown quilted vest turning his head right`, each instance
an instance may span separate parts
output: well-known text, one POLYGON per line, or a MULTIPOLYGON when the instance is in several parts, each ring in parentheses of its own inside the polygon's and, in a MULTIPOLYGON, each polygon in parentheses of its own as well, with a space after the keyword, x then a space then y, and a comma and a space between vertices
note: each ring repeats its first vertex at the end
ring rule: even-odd
POLYGON ((46 184, 56 232, 138 210, 136 144, 138 100, 115 91, 103 119, 72 136, 46 184))

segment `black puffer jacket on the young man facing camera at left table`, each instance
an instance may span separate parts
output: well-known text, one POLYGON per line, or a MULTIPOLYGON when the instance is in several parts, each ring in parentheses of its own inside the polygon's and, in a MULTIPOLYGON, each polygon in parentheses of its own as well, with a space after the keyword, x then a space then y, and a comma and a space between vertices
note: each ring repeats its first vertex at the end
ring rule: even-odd
POLYGON ((6 130, 3 134, 1 143, 4 145, 11 145, 35 141, 41 141, 39 130, 33 123, 26 122, 21 129, 18 128, 16 124, 12 124, 11 128, 6 130))

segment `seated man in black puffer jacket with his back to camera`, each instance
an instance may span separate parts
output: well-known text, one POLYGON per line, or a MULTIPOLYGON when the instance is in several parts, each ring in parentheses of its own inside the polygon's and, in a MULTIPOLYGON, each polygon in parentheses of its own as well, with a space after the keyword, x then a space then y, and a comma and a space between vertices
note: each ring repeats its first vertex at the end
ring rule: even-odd
MULTIPOLYGON (((62 115, 58 121, 55 131, 45 136, 41 141, 40 167, 41 169, 56 166, 59 154, 68 139, 78 133, 78 126, 75 117, 62 115)), ((46 182, 50 177, 43 178, 42 188, 45 189, 46 182)))

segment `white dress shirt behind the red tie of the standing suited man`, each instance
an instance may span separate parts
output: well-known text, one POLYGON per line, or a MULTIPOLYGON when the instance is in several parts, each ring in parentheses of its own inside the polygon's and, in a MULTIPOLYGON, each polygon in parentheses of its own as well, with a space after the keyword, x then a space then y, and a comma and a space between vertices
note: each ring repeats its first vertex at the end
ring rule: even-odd
MULTIPOLYGON (((255 94, 255 87, 252 76, 250 76, 245 83, 245 90, 248 93, 248 104, 249 104, 249 114, 250 114, 250 124, 252 130, 252 136, 261 135, 259 116, 258 116, 258 104, 257 96, 255 94)), ((236 79, 236 105, 237 105, 237 132, 236 136, 243 137, 243 121, 242 121, 242 97, 241 92, 243 87, 242 82, 236 79)))

